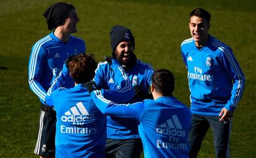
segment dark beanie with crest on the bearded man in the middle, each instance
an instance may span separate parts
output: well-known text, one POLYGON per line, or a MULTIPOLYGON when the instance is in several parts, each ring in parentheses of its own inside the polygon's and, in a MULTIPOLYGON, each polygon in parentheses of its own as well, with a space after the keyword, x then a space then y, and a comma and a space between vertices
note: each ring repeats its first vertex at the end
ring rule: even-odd
POLYGON ((109 35, 111 40, 111 49, 113 52, 116 49, 117 45, 122 41, 130 41, 135 48, 134 36, 132 36, 132 32, 129 30, 129 28, 123 27, 121 25, 116 25, 111 28, 109 35))

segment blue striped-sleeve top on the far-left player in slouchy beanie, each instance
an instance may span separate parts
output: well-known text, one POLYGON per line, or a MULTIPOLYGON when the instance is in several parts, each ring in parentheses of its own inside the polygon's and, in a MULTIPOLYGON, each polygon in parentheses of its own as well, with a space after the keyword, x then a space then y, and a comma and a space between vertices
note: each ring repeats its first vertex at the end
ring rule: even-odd
POLYGON ((85 51, 82 39, 70 36, 69 41, 63 43, 53 32, 34 44, 28 62, 28 83, 41 102, 45 102, 51 81, 61 72, 64 61, 72 54, 85 51))

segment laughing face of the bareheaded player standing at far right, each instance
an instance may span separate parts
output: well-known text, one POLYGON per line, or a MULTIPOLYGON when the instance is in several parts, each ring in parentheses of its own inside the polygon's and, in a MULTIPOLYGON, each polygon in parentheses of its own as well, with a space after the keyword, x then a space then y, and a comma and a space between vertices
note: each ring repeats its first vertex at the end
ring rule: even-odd
POLYGON ((207 43, 208 30, 210 29, 210 23, 207 23, 207 20, 192 16, 189 22, 189 29, 197 47, 202 47, 207 43))

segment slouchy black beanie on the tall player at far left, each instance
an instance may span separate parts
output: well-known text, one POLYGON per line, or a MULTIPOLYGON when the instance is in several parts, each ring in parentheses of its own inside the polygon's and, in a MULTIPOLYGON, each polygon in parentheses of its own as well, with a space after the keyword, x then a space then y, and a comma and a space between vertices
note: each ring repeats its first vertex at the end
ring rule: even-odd
POLYGON ((54 30, 62 25, 72 9, 75 7, 67 2, 57 2, 50 6, 43 14, 47 20, 48 30, 54 30))

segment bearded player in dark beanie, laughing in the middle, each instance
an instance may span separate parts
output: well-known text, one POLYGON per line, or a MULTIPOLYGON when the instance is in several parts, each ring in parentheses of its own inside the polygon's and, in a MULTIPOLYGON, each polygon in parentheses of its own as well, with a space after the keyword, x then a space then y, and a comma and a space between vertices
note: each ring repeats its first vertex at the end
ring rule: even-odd
MULTIPOLYGON (((118 97, 103 94, 105 98, 117 103, 143 101, 152 98, 148 93, 151 85, 153 69, 137 59, 134 54, 135 39, 132 32, 123 26, 117 25, 110 32, 112 56, 109 62, 101 62, 95 72, 96 85, 104 89, 122 91, 118 97), (115 71, 109 68, 109 63, 119 62, 135 89, 135 97, 124 95, 125 89, 120 86, 120 79, 114 75, 115 71)), ((131 96, 131 95, 130 95, 131 96)), ((106 157, 140 157, 142 142, 138 133, 137 120, 133 118, 107 117, 106 157)))

